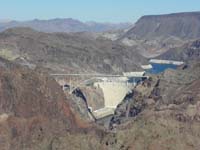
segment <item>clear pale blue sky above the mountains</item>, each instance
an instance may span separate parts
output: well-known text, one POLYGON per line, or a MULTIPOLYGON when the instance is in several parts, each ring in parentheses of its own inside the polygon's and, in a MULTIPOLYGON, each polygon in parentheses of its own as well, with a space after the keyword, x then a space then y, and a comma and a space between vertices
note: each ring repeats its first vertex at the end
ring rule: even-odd
POLYGON ((0 20, 74 18, 117 23, 189 11, 200 11, 200 0, 0 0, 0 20))

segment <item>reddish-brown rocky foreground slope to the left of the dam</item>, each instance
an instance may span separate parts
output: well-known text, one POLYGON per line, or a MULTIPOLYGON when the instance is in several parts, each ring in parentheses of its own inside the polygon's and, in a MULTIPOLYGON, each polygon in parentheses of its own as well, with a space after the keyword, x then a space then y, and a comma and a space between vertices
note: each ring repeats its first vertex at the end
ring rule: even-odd
POLYGON ((0 149, 94 149, 98 134, 70 101, 53 78, 0 59, 0 149))

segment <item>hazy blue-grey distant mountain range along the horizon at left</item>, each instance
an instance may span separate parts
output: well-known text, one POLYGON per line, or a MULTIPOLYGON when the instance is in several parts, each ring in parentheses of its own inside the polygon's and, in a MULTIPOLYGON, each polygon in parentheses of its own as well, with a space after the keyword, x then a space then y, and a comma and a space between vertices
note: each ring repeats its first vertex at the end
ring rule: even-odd
POLYGON ((110 30, 127 29, 131 23, 97 23, 81 22, 79 20, 51 19, 51 20, 31 20, 31 21, 2 21, 0 22, 0 31, 13 27, 30 27, 42 32, 104 32, 110 30))

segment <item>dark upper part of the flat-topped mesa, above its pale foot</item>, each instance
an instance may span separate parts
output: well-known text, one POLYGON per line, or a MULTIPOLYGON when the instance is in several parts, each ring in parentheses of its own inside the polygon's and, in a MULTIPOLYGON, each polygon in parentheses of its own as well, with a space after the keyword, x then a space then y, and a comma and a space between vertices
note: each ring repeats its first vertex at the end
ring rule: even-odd
POLYGON ((126 37, 152 39, 178 37, 194 39, 200 37, 200 12, 150 15, 140 18, 126 37))

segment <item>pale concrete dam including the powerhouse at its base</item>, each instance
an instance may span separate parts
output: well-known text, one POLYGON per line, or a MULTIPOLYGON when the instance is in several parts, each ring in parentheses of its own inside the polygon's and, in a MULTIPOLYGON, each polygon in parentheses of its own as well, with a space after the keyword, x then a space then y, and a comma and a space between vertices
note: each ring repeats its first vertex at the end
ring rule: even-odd
POLYGON ((117 106, 124 100, 138 82, 148 78, 145 72, 126 72, 121 77, 103 78, 101 82, 94 83, 101 88, 104 95, 104 108, 92 111, 96 119, 114 114, 117 106))

